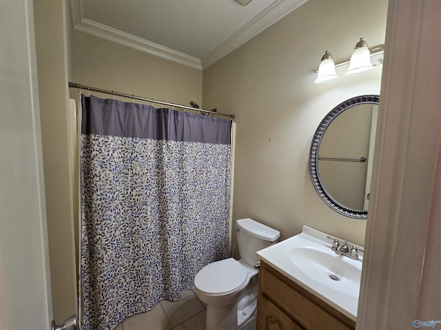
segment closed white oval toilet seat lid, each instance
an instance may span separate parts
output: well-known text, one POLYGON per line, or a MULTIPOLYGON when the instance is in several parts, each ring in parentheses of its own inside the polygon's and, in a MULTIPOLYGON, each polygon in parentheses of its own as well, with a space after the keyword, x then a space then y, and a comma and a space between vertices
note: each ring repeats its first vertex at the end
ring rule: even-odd
POLYGON ((232 292, 247 281, 248 271, 235 259, 229 258, 203 267, 194 278, 196 288, 206 294, 232 292))

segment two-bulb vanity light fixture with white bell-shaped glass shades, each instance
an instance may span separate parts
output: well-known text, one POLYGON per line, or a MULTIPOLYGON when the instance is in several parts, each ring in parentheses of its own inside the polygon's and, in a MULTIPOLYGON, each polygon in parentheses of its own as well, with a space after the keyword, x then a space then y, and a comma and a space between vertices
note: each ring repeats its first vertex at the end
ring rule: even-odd
POLYGON ((334 64, 332 55, 326 51, 325 55, 322 56, 320 67, 315 71, 317 78, 314 80, 314 83, 325 84, 336 80, 338 75, 336 74, 335 68, 346 64, 349 64, 349 68, 347 72, 345 72, 345 76, 353 76, 367 72, 373 67, 383 63, 383 54, 384 45, 368 47, 366 41, 362 38, 360 38, 360 41, 358 41, 356 47, 354 47, 351 61, 334 64))

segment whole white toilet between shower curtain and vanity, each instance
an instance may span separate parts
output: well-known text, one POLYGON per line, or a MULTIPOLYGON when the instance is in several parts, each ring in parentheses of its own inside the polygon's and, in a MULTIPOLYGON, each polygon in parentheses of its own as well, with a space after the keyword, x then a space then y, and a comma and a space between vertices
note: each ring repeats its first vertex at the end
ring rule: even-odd
POLYGON ((280 232, 252 219, 236 221, 240 260, 210 263, 194 278, 194 293, 205 305, 205 330, 236 330, 256 311, 258 250, 278 241, 280 232))

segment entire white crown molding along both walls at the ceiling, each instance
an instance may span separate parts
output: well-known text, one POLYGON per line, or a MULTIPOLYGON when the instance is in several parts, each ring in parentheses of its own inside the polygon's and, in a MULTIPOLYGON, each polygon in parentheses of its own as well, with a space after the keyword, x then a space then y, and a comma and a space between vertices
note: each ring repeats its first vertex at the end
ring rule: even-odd
POLYGON ((146 52, 154 56, 165 58, 169 61, 174 61, 182 65, 194 67, 195 69, 205 69, 209 65, 214 64, 230 52, 236 50, 249 39, 269 28, 279 19, 282 19, 287 14, 300 7, 308 0, 278 0, 270 5, 266 10, 260 13, 252 21, 247 23, 245 27, 238 30, 235 34, 229 37, 226 41, 218 45, 212 52, 209 52, 204 58, 199 59, 176 50, 152 43, 145 39, 141 39, 132 34, 121 32, 107 25, 96 23, 90 19, 83 17, 83 0, 70 0, 70 8, 72 14, 72 25, 75 30, 92 34, 99 38, 119 43, 127 47, 146 52))

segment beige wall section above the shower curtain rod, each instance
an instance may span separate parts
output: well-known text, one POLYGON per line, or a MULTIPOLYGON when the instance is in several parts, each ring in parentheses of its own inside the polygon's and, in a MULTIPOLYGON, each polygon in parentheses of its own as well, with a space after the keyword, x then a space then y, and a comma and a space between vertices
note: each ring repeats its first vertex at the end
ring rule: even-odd
POLYGON ((201 70, 90 34, 73 32, 72 62, 74 83, 177 104, 202 102, 201 70))

